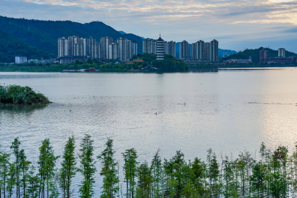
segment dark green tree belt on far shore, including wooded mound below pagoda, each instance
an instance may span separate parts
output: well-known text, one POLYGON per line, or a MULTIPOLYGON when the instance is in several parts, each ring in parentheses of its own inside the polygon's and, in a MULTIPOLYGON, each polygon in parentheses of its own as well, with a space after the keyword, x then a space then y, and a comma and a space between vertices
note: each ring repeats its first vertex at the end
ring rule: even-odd
POLYGON ((182 60, 176 59, 171 55, 164 54, 164 60, 156 60, 156 54, 144 53, 134 55, 133 59, 143 59, 144 62, 135 62, 134 64, 124 64, 115 60, 106 60, 102 63, 97 59, 88 58, 85 62, 77 60, 73 63, 21 63, 21 64, 0 64, 0 71, 45 71, 45 72, 61 72, 62 70, 80 70, 95 68, 99 72, 137 72, 145 67, 157 68, 157 72, 180 72, 188 70, 189 66, 182 60))

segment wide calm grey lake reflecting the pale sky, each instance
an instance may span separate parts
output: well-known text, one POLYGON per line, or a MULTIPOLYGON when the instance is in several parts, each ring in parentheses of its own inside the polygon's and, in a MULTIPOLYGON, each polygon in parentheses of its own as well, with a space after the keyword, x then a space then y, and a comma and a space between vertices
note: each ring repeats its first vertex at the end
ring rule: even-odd
MULTIPOLYGON (((297 142, 297 69, 211 69, 187 73, 27 73, 1 72, 0 83, 30 86, 52 103, 0 107, 0 145, 19 137, 29 160, 37 162, 41 141, 49 138, 61 155, 70 135, 95 141, 95 156, 107 138, 115 157, 135 148, 139 161, 181 149, 186 159, 205 160, 245 149, 258 155, 260 144, 275 148, 297 142)), ((78 150, 79 147, 77 147, 78 150)), ((99 170, 99 162, 97 162, 99 170)), ((96 195, 101 178, 96 173, 96 195)), ((77 176, 73 185, 77 185, 77 176)))

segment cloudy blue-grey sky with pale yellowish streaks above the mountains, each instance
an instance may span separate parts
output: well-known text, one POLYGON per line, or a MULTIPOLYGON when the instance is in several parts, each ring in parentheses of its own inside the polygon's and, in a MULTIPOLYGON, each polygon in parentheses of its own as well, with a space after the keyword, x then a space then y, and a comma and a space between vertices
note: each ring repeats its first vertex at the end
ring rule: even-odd
POLYGON ((102 21, 145 38, 297 52, 297 0, 0 0, 0 15, 102 21))

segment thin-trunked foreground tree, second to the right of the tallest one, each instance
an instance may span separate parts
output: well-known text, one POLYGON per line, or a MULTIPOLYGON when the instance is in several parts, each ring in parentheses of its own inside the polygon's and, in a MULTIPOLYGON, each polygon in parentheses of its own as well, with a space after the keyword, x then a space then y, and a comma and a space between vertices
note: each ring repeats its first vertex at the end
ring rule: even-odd
POLYGON ((127 149, 124 153, 122 153, 124 157, 124 175, 127 185, 127 198, 134 198, 135 194, 135 177, 136 177, 136 170, 137 170, 137 152, 134 148, 127 149))

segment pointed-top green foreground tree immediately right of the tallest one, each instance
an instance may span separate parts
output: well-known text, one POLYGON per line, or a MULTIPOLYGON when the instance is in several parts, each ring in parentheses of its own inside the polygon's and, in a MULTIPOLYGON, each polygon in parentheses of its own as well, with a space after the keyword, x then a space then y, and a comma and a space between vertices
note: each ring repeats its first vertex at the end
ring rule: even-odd
POLYGON ((100 198, 114 198, 114 196, 119 191, 118 183, 119 178, 117 176, 117 162, 113 158, 115 151, 112 149, 113 140, 108 139, 106 148, 98 156, 101 161, 101 172, 100 175, 103 176, 103 186, 101 187, 102 192, 100 198))

